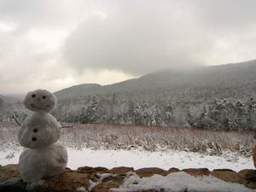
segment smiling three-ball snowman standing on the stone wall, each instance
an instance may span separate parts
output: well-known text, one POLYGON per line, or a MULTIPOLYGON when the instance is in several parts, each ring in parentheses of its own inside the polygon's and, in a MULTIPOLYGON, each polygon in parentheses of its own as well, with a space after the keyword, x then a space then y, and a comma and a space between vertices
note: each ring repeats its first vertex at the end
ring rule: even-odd
POLYGON ((20 145, 26 147, 19 160, 20 177, 26 183, 58 175, 67 166, 67 150, 57 143, 61 125, 50 114, 55 103, 56 97, 48 90, 33 90, 25 97, 25 107, 34 112, 18 133, 20 145))

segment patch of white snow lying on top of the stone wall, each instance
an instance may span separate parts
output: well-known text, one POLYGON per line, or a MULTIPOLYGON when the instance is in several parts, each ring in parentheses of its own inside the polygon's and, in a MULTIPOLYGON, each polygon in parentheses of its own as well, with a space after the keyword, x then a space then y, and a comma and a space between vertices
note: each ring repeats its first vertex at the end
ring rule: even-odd
POLYGON ((125 177, 124 183, 118 189, 110 192, 129 192, 155 189, 157 191, 176 192, 253 192, 241 184, 227 183, 217 177, 192 177, 185 172, 170 173, 166 177, 154 175, 140 178, 131 172, 125 177))

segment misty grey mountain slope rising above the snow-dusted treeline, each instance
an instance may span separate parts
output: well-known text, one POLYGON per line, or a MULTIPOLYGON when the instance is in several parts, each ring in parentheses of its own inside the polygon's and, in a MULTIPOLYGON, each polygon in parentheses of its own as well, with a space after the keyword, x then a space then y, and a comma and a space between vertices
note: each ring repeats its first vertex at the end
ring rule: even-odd
POLYGON ((216 97, 246 99, 256 96, 256 60, 193 69, 170 69, 117 84, 79 84, 55 92, 60 101, 113 94, 125 100, 148 96, 167 96, 176 101, 208 101, 216 97))

